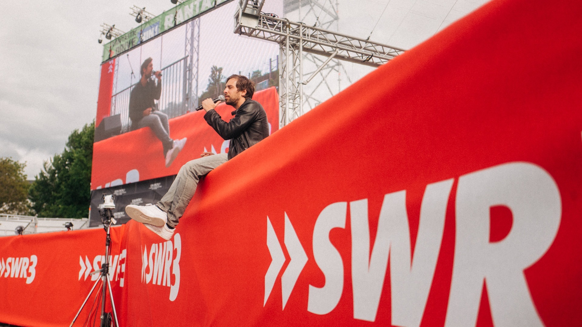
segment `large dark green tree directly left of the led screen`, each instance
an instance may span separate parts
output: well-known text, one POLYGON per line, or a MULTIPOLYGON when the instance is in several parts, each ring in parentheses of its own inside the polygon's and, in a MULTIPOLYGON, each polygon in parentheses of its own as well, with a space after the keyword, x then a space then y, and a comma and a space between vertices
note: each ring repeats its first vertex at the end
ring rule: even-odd
POLYGON ((65 150, 44 162, 29 190, 40 217, 83 218, 89 214, 95 122, 74 130, 65 150))

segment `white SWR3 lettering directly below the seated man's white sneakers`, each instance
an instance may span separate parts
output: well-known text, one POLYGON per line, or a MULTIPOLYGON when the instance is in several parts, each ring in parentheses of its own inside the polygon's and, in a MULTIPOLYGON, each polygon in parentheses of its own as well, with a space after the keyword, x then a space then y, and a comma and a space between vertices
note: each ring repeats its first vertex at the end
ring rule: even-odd
POLYGON ((152 244, 148 251, 143 250, 141 261, 141 282, 144 284, 170 287, 170 301, 176 300, 180 289, 180 255, 182 254, 182 239, 180 234, 172 241, 152 244), (176 258, 173 258, 176 250, 176 258), (175 280, 172 284, 172 275, 175 280))

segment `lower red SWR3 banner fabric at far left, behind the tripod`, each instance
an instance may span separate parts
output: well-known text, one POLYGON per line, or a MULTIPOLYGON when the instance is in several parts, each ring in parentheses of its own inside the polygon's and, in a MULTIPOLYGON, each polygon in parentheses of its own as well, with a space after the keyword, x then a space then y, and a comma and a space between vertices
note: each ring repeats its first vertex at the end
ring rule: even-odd
MULTIPOLYGON (((123 285, 126 252, 119 251, 123 226, 111 229, 110 279, 113 296, 123 285)), ((105 231, 8 236, 0 239, 0 322, 17 326, 69 326, 105 262, 105 231)), ((94 291, 94 295, 98 290, 94 291)), ((75 326, 83 326, 95 297, 75 326)), ((101 303, 96 301, 99 308, 101 303)), ((100 310, 97 310, 100 311, 100 310)), ((97 313, 98 319, 98 313, 97 313)))

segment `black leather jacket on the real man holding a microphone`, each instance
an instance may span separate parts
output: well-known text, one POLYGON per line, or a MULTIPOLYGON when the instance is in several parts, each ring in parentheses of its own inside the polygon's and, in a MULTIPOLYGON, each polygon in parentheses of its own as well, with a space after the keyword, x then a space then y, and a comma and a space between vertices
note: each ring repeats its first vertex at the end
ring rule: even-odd
POLYGON ((267 113, 257 101, 246 99, 232 114, 235 116, 228 123, 222 120, 214 109, 204 115, 208 125, 212 126, 218 135, 230 140, 229 160, 269 136, 267 113))

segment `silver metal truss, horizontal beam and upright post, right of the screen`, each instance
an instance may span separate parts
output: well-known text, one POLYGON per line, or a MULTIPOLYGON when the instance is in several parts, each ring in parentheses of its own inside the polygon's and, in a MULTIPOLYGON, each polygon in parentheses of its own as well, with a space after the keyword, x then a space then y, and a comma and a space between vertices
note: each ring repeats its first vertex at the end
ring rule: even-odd
MULTIPOLYGON (((336 33, 317 26, 308 26, 300 22, 292 22, 289 19, 274 17, 261 13, 265 0, 239 0, 239 10, 235 15, 235 33, 247 35, 249 37, 260 38, 262 40, 277 42, 281 52, 282 61, 279 67, 279 97, 281 103, 281 126, 291 122, 293 119, 303 114, 304 98, 308 102, 318 101, 311 94, 303 93, 303 86, 313 77, 320 73, 323 80, 319 86, 325 85, 330 93, 333 91, 325 79, 335 69, 340 72, 343 69, 337 62, 332 62, 327 67, 327 74, 322 69, 332 59, 359 63, 377 67, 382 65, 396 56, 402 54, 404 49, 391 47, 378 42, 364 40, 363 38, 352 37, 350 35, 336 33), (304 58, 306 54, 320 55, 328 57, 321 66, 304 80, 304 58)), ((326 10, 321 3, 310 2, 311 11, 314 6, 318 6, 320 12, 324 10, 331 15, 331 20, 324 21, 321 25, 330 26, 335 20, 333 10, 326 10), (330 12, 328 12, 330 11, 330 12)), ((301 8, 299 2, 298 8, 301 8)), ((319 17, 318 17, 319 19, 319 17)), ((316 22, 317 24, 317 22, 316 22)), ((310 61, 317 64, 321 59, 310 58, 310 61)), ((345 72, 345 69, 343 69, 345 72)), ((312 105, 310 103, 310 105, 312 105)))

